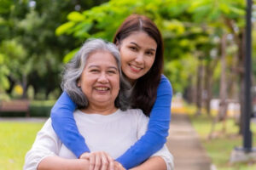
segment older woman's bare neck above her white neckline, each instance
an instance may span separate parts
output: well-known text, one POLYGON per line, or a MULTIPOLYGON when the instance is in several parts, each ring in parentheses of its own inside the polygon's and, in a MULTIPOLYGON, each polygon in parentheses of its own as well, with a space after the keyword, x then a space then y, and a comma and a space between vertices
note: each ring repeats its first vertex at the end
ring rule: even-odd
POLYGON ((100 114, 100 115, 110 115, 117 111, 118 108, 113 106, 99 106, 99 105, 88 105, 87 108, 81 109, 84 113, 87 114, 100 114))

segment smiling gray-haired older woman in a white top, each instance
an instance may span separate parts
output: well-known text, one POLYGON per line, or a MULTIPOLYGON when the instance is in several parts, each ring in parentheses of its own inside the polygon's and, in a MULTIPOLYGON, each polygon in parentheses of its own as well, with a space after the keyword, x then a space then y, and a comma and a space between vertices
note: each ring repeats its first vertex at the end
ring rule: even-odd
MULTIPOLYGON (((62 88, 78 105, 74 119, 79 133, 87 139, 90 151, 96 156, 90 154, 88 159, 76 159, 61 143, 49 119, 26 154, 24 169, 90 169, 90 161, 102 170, 113 168, 110 162, 131 147, 148 125, 148 117, 141 110, 126 110, 129 100, 125 87, 119 51, 113 43, 100 39, 85 42, 67 64, 62 88)), ((152 157, 158 158, 157 164, 154 162, 156 169, 172 169, 172 155, 166 146, 152 157)), ((115 168, 123 169, 117 162, 115 168)))

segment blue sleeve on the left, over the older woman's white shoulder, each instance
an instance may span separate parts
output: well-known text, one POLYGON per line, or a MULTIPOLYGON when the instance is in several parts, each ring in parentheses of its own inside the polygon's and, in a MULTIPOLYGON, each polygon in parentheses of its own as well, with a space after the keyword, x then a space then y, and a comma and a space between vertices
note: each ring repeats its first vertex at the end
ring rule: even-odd
POLYGON ((66 92, 56 101, 51 110, 50 118, 55 133, 61 142, 79 158, 84 152, 90 151, 85 144, 84 137, 79 133, 79 129, 73 117, 76 105, 66 92))

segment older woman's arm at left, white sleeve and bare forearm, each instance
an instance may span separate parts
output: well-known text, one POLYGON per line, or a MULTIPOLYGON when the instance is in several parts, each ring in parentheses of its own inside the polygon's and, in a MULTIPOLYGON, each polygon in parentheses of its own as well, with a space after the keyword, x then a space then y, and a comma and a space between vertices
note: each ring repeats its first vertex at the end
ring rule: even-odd
POLYGON ((58 156, 61 140, 51 126, 50 119, 38 132, 32 149, 26 153, 24 170, 87 170, 89 161, 85 159, 66 159, 58 156))

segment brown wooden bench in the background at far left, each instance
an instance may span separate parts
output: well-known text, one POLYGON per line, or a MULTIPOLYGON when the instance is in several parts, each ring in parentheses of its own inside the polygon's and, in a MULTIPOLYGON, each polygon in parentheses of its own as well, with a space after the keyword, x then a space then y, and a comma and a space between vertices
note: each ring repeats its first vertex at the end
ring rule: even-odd
POLYGON ((0 101, 0 113, 1 112, 26 112, 26 116, 30 116, 29 101, 28 100, 0 101))

